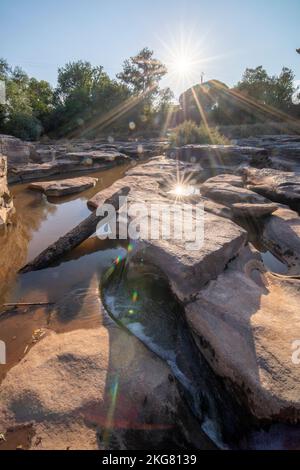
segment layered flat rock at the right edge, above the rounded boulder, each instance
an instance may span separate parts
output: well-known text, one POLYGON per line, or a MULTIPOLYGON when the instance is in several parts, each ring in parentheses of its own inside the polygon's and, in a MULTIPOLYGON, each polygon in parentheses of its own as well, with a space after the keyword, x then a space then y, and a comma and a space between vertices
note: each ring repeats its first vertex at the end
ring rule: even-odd
POLYGON ((300 175, 292 172, 264 168, 243 169, 247 187, 272 201, 300 208, 300 175))

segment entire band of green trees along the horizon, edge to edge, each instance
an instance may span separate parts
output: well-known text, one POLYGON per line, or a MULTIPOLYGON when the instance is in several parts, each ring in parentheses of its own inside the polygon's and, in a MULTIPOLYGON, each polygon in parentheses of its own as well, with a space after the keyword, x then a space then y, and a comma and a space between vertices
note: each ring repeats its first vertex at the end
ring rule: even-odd
POLYGON ((30 78, 0 59, 6 101, 0 104, 0 133, 36 140, 96 138, 103 135, 164 134, 185 121, 210 126, 286 122, 300 118, 294 74, 283 68, 270 76, 259 66, 246 69, 233 88, 211 80, 195 85, 173 102, 159 83, 165 65, 148 48, 126 60, 115 78, 102 66, 78 61, 58 69, 57 86, 30 78))

